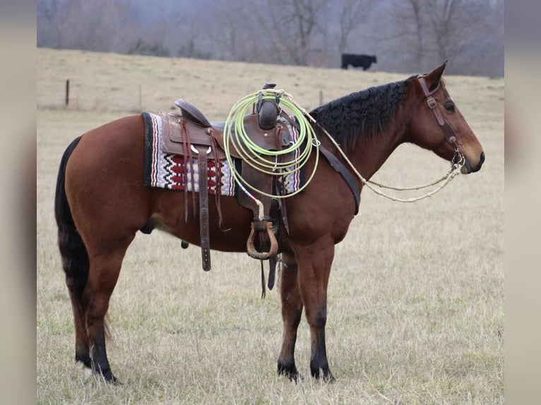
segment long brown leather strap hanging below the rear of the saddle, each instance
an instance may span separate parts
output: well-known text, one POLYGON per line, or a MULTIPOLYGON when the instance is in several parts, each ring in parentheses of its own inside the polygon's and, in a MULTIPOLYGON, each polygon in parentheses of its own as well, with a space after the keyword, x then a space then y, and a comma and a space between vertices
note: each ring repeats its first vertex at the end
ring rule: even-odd
POLYGON ((201 233, 201 258, 203 270, 210 270, 210 236, 208 231, 208 158, 207 148, 197 147, 197 166, 199 168, 199 231, 201 233))

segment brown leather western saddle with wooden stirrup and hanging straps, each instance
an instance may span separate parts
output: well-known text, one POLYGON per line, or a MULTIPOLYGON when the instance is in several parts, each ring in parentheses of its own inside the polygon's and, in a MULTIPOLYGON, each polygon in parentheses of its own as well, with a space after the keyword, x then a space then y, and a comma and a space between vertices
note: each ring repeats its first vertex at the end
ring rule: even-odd
MULTIPOLYGON (((274 85, 272 83, 266 84, 263 90, 273 87, 274 85)), ((249 140, 265 150, 279 151, 292 143, 292 134, 290 134, 289 128, 290 125, 295 125, 295 121, 281 111, 278 106, 279 102, 279 97, 276 97, 276 99, 262 99, 260 93, 258 102, 254 103, 252 113, 244 116, 244 131, 249 135, 249 140)), ((197 161, 198 179, 200 181, 198 214, 201 232, 201 255, 203 270, 208 271, 210 270, 208 187, 204 181, 208 179, 208 161, 226 159, 225 122, 208 121, 201 111, 184 99, 178 99, 175 104, 179 107, 180 114, 172 112, 160 113, 163 129, 161 146, 163 152, 183 156, 184 162, 191 166, 189 167, 191 173, 194 173, 194 160, 197 161)), ((232 132, 234 133, 234 126, 232 126, 232 132)), ((280 229, 279 215, 280 213, 282 214, 286 229, 287 217, 285 216, 285 207, 280 203, 280 199, 272 198, 258 191, 263 191, 265 194, 270 195, 273 195, 273 191, 275 193, 281 193, 282 191, 277 184, 277 176, 263 174, 248 164, 245 159, 242 159, 242 154, 239 153, 239 150, 241 148, 246 150, 246 145, 243 144, 242 140, 234 136, 230 139, 231 144, 227 150, 231 157, 239 159, 241 162, 242 179, 253 186, 253 189, 250 189, 250 191, 247 191, 244 187, 240 187, 238 196, 239 204, 249 208, 254 214, 249 238, 246 241, 246 252, 252 258, 270 260, 271 273, 269 274, 269 288, 272 288, 274 279, 273 267, 275 267, 275 256, 278 254, 279 249, 277 241, 278 230, 280 229), (262 203, 263 215, 261 215, 261 205, 257 205, 254 202, 254 198, 262 203)), ((289 155, 283 156, 282 159, 289 159, 289 155)), ((220 216, 220 226, 223 229, 219 175, 219 171, 217 171, 215 198, 220 216)), ((190 180, 193 182, 194 176, 191 176, 191 179, 188 181, 190 180)), ((192 183, 192 190, 194 189, 194 184, 192 183)), ((185 190, 187 190, 187 187, 185 190)), ((184 198, 187 203, 187 191, 184 193, 184 198)), ((192 193, 192 198, 194 199, 193 206, 196 207, 194 193, 192 193)), ((188 207, 187 204, 185 206, 188 207)), ((187 220, 187 209, 185 216, 187 220)), ((195 217, 196 212, 194 212, 195 217)))

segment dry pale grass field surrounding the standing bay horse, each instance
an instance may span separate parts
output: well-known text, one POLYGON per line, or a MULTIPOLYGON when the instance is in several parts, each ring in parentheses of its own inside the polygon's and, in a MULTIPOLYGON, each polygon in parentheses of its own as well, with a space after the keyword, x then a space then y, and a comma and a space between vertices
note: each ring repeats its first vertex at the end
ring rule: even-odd
MULTIPOLYGON (((110 386, 73 363, 69 295, 57 249, 54 187, 77 135, 121 116, 196 104, 210 119, 267 81, 310 109, 407 75, 38 49, 37 401, 40 404, 501 404, 504 402, 504 80, 448 76, 487 155, 418 203, 371 191, 336 249, 327 353, 334 384, 309 377, 301 323, 297 385, 275 373, 282 333, 276 291, 260 299, 259 265, 167 234, 139 234, 109 308, 110 386), (70 80, 70 102, 65 85, 70 80)), ((452 63, 452 61, 451 61, 452 63)), ((416 72, 412 72, 416 73, 416 72)), ((403 145, 374 179, 427 183, 448 170, 403 145)), ((410 195, 408 195, 410 196, 410 195)))

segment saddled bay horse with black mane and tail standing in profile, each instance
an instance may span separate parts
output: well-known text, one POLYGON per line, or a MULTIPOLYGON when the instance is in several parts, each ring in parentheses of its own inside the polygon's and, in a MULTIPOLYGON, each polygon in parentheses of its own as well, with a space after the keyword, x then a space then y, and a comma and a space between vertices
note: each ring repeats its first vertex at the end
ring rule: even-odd
MULTIPOLYGON (((459 153, 463 174, 484 162, 479 141, 458 110, 442 79, 446 63, 425 75, 353 92, 310 112, 321 145, 335 153, 323 128, 342 147, 365 179, 381 167, 402 143, 432 150, 450 162, 459 153)), ((157 228, 182 241, 199 244, 199 222, 191 198, 165 188, 143 186, 141 115, 127 116, 95 128, 73 140, 61 158, 55 196, 55 217, 62 266, 73 308, 75 360, 117 382, 105 349, 104 317, 117 283, 121 263, 137 232, 157 228), (185 205, 189 206, 185 206, 185 205)), ((315 164, 312 147, 307 170, 315 164)), ((343 160, 342 157, 339 157, 343 160)), ((363 183, 355 178, 359 189, 363 183)), ((246 251, 252 213, 237 198, 210 199, 210 248, 246 251)), ((322 160, 309 186, 283 200, 288 231, 280 224, 280 300, 283 340, 278 373, 297 380, 295 341, 302 310, 310 328, 311 375, 334 380, 329 368, 325 325, 327 286, 335 244, 345 238, 357 210, 344 179, 322 160)))

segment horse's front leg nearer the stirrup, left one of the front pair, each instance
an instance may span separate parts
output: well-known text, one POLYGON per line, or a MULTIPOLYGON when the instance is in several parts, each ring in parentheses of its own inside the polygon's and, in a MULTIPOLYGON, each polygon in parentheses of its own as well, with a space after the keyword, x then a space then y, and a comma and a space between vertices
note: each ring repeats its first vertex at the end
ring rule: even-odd
POLYGON ((299 372, 295 365, 295 342, 302 315, 302 299, 299 290, 299 272, 295 255, 282 253, 280 272, 280 299, 284 330, 282 348, 278 357, 278 374, 297 381, 299 372))

